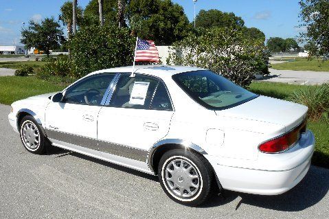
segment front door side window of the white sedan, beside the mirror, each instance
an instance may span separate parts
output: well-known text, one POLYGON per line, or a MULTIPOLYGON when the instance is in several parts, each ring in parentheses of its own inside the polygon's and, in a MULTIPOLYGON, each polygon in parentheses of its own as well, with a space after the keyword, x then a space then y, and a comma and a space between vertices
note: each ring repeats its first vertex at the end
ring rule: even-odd
POLYGON ((70 87, 63 98, 69 104, 98 106, 115 74, 90 76, 70 87))

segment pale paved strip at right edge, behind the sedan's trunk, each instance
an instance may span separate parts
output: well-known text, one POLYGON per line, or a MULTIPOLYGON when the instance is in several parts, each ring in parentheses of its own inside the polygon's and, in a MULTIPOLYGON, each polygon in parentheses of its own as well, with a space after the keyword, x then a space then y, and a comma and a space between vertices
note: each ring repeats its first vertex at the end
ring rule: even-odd
POLYGON ((289 84, 329 83, 329 71, 292 71, 269 69, 269 76, 258 80, 265 82, 285 82, 289 84))

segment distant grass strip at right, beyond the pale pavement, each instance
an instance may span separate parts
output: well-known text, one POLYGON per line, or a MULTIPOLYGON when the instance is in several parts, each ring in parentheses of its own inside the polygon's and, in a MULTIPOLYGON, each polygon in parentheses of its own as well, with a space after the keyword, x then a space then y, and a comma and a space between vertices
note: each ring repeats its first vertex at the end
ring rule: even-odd
POLYGON ((307 58, 296 58, 290 62, 272 64, 271 67, 277 70, 295 71, 329 71, 329 60, 318 59, 308 60, 307 58))

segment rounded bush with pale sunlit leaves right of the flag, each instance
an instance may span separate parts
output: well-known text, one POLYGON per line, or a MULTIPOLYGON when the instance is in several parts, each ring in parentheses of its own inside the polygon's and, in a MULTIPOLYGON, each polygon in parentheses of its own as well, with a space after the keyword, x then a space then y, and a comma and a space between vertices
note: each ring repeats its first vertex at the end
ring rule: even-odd
POLYGON ((242 87, 248 87, 255 73, 269 73, 262 39, 247 38, 241 30, 220 27, 194 34, 174 43, 168 62, 210 69, 242 87))

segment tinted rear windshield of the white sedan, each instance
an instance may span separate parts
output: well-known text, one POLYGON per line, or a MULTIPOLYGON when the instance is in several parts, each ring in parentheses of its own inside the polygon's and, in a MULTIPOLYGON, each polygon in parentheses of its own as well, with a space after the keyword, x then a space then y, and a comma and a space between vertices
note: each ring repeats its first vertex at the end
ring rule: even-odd
POLYGON ((212 71, 178 73, 172 79, 193 100, 213 110, 231 108, 258 97, 212 71))

